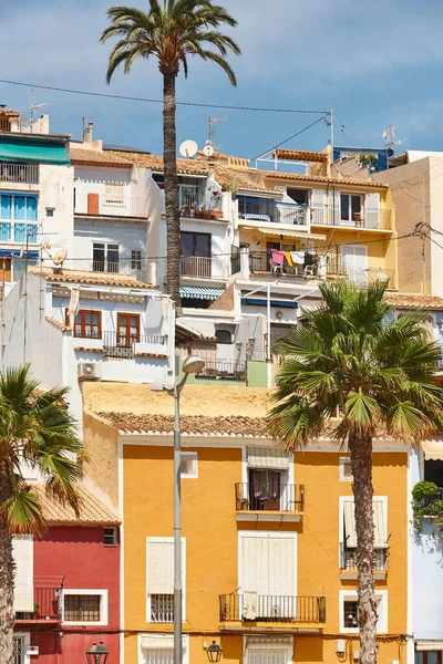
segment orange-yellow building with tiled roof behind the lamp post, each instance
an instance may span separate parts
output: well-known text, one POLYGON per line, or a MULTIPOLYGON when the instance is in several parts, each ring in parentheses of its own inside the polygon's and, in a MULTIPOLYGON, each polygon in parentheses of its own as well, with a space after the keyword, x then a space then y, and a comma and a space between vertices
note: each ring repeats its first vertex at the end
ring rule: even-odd
MULTIPOLYGON (((102 404, 85 418, 85 437, 102 449, 89 461, 97 481, 104 446, 120 459, 105 474, 123 516, 122 661, 167 664, 173 400, 147 388, 137 398, 120 387, 121 412, 102 404)), ((188 385, 183 393, 184 662, 205 664, 215 640, 226 663, 352 664, 359 645, 348 455, 327 432, 303 452, 277 450, 266 435, 267 400, 258 388, 188 385)), ((374 440, 373 465, 379 661, 404 662, 408 450, 374 440)))

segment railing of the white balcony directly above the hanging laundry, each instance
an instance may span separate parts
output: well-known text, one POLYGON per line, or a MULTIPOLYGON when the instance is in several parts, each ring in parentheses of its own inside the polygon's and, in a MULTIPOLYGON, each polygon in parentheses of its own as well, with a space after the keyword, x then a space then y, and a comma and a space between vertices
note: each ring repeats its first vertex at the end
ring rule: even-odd
POLYGON ((307 205, 240 196, 238 197, 238 216, 240 219, 249 221, 306 226, 310 219, 310 210, 307 205))

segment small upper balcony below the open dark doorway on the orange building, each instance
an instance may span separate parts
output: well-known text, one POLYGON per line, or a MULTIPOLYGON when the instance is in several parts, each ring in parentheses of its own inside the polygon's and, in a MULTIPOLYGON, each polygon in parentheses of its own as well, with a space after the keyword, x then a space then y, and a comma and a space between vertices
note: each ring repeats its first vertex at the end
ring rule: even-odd
POLYGON ((305 510, 305 485, 258 487, 235 485, 237 521, 300 521, 305 510))

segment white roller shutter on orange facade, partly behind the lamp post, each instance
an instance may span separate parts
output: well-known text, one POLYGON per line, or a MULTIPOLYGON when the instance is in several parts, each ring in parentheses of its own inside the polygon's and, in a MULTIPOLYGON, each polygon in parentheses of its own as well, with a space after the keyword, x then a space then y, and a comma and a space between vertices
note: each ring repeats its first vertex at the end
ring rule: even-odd
MULTIPOLYGON (((185 568, 185 542, 182 541, 182 581, 185 568)), ((147 594, 174 594, 174 540, 148 538, 146 541, 147 594)))

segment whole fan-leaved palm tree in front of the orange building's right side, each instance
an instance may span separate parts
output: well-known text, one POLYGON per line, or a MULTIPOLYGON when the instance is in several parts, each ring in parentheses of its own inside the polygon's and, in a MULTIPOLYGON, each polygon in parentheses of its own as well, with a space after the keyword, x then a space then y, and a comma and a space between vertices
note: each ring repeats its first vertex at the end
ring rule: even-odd
POLYGON ((395 439, 416 442, 442 425, 443 393, 433 383, 440 359, 424 315, 393 319, 384 286, 319 286, 322 303, 303 310, 306 326, 276 344, 281 365, 269 413, 270 430, 288 450, 337 419, 333 438, 348 444, 353 476, 360 661, 377 661, 373 581, 372 437, 380 426, 395 439))

